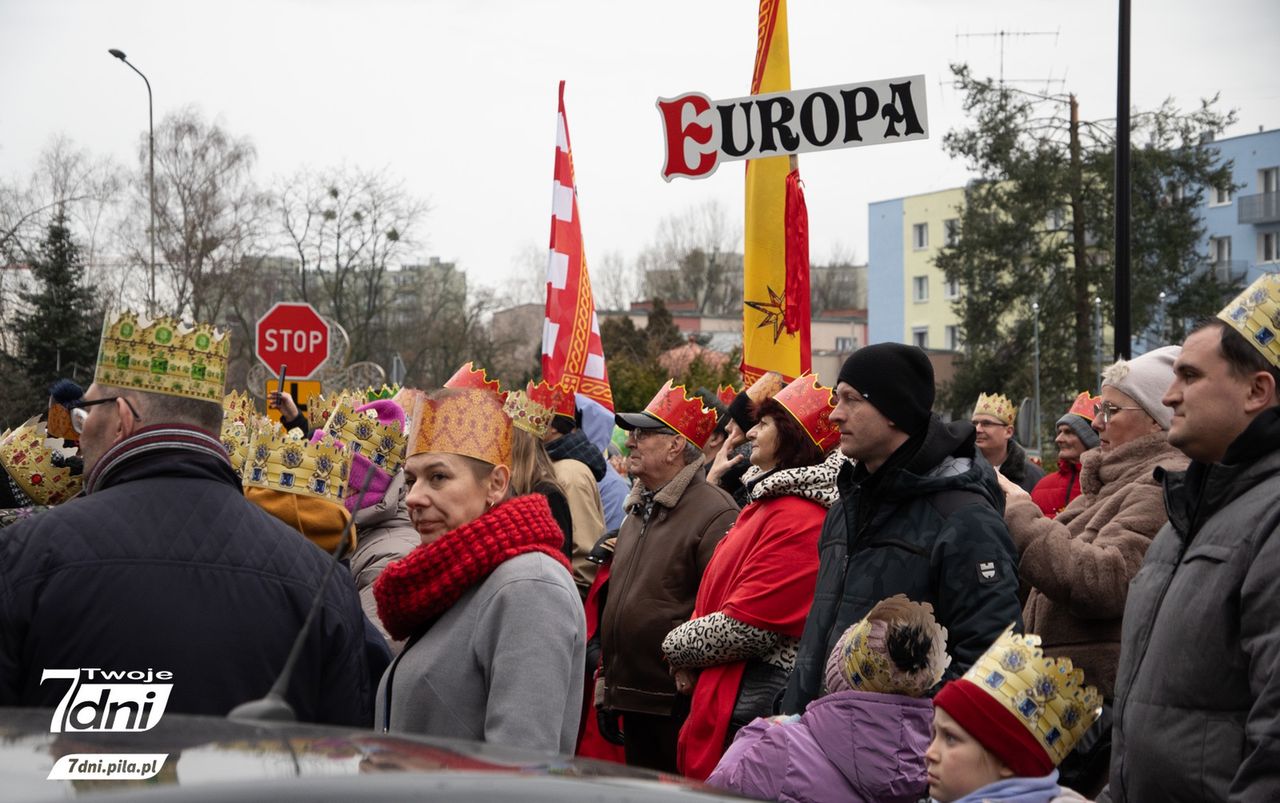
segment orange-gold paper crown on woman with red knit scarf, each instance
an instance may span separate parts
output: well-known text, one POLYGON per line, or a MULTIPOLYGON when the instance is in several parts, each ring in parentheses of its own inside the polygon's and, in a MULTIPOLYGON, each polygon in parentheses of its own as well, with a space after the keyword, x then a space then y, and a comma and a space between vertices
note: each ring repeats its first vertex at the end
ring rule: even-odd
POLYGON ((511 465, 511 419, 490 391, 445 388, 421 391, 410 415, 408 456, 445 452, 495 466, 511 465))

